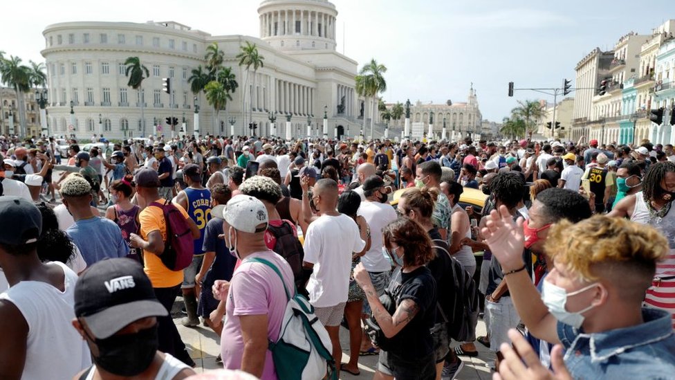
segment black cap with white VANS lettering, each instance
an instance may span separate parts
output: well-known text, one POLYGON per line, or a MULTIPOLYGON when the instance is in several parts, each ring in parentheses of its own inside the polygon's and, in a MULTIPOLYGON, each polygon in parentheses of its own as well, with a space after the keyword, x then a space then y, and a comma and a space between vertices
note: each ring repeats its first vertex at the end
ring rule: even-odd
POLYGON ((97 262, 75 284, 75 316, 84 319, 95 338, 108 338, 141 318, 168 314, 140 263, 128 258, 97 262))

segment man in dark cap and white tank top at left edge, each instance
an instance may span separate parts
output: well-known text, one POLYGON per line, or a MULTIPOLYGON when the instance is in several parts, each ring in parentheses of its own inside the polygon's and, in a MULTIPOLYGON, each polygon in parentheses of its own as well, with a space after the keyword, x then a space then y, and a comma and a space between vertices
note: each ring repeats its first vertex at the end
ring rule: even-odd
POLYGON ((69 379, 91 363, 70 327, 77 274, 37 257, 41 226, 33 202, 0 197, 0 266, 10 285, 0 294, 3 379, 69 379))

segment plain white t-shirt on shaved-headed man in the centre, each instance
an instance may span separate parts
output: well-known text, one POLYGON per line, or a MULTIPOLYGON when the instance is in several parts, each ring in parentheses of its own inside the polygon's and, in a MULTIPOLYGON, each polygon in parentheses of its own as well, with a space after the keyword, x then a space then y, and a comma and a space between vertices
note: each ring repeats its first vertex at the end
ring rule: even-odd
POLYGON ((354 219, 346 215, 322 215, 307 228, 304 261, 314 264, 307 291, 315 307, 331 307, 346 302, 349 291, 351 255, 366 243, 354 219))

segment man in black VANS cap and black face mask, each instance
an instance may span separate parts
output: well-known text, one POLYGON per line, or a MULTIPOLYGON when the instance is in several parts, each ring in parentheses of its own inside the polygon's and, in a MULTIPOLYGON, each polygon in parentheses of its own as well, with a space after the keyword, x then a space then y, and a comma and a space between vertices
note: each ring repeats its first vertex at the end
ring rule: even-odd
POLYGON ((75 287, 73 326, 91 348, 94 364, 73 379, 185 379, 195 372, 157 350, 156 299, 142 266, 134 260, 102 260, 75 287))

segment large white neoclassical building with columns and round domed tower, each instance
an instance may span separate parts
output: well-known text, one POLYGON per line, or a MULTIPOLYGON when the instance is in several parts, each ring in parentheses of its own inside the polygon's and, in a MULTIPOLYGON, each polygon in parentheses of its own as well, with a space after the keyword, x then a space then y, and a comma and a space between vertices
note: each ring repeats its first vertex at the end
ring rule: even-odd
POLYGON ((124 138, 142 136, 145 131, 145 135, 168 136, 172 131, 165 118, 176 117, 176 134, 181 127, 185 134, 251 134, 248 123, 253 121, 260 136, 290 134, 295 138, 308 134, 308 121, 311 134, 322 136, 325 113, 327 134, 333 137, 344 134, 350 123, 359 123, 360 100, 354 82, 357 62, 335 51, 338 11, 333 3, 266 0, 258 13, 259 38, 212 36, 174 21, 81 21, 47 26, 41 53, 48 73, 49 133, 124 138), (232 67, 239 82, 218 120, 203 93, 193 94, 188 81, 192 69, 205 65, 205 49, 214 42, 225 54, 224 65, 232 67), (255 81, 252 71, 247 81, 246 68, 235 58, 246 42, 256 44, 264 57, 255 81), (139 57, 149 71, 142 93, 127 86, 127 57, 139 57), (163 91, 163 78, 172 78, 172 99, 163 91), (272 130, 270 114, 275 112, 272 130))

